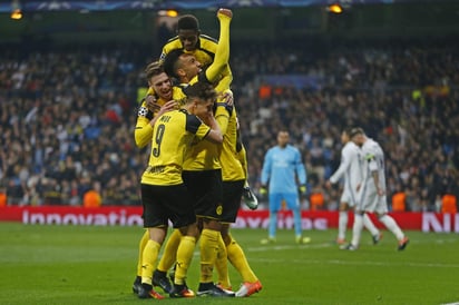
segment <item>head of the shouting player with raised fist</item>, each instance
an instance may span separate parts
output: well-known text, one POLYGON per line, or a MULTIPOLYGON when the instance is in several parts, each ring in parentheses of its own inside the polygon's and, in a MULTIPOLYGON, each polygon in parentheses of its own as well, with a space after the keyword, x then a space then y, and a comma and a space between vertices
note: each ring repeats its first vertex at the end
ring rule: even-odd
POLYGON ((201 72, 201 62, 191 53, 180 49, 170 51, 164 59, 164 70, 180 82, 188 82, 201 72))

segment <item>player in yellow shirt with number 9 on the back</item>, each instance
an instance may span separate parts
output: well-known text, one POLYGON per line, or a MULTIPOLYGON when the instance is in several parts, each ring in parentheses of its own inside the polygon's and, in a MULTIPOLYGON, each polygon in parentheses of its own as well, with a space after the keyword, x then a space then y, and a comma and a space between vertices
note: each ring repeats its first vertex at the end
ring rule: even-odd
POLYGON ((177 269, 170 296, 195 295, 184 282, 193 258, 198 228, 194 199, 182 178, 183 165, 192 142, 206 139, 219 144, 223 136, 213 116, 216 98, 213 88, 196 83, 187 89, 189 95, 182 109, 160 114, 152 122, 152 154, 140 181, 144 227, 149 233, 141 258, 141 286, 138 291, 140 298, 163 298, 153 289, 152 274, 169 220, 183 236, 176 254, 177 269))

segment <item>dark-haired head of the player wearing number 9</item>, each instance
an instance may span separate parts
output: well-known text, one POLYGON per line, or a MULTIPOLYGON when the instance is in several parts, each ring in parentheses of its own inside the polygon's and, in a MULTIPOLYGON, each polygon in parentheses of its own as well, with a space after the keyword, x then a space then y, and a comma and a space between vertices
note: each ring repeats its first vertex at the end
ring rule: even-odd
POLYGON ((217 94, 209 83, 197 81, 184 89, 189 112, 196 116, 212 111, 217 94))

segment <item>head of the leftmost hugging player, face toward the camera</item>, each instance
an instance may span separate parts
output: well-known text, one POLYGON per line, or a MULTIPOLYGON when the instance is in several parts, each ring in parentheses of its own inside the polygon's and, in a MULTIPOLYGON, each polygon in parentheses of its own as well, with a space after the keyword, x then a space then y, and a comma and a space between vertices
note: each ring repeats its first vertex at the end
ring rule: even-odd
POLYGON ((159 61, 150 62, 147 68, 145 68, 145 75, 148 86, 153 88, 159 98, 165 101, 172 100, 172 82, 159 61))

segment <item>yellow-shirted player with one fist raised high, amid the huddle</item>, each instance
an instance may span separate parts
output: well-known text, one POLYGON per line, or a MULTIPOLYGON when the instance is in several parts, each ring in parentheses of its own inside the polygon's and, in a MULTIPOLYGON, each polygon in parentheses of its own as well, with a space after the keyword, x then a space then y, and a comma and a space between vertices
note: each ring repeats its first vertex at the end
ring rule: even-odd
MULTIPOLYGON (((219 10, 217 17, 221 23, 219 41, 214 61, 207 69, 203 70, 201 62, 182 49, 170 51, 164 60, 166 72, 177 78, 182 83, 183 95, 187 94, 187 88, 193 83, 211 85, 218 81, 222 70, 227 66, 232 12, 219 10)), ((174 98, 176 97, 174 96, 174 98)), ((218 111, 226 111, 226 109, 217 107, 216 115, 218 111)), ((222 127, 227 121, 218 121, 218 124, 222 127)), ((234 296, 234 293, 225 292, 213 283, 213 268, 217 256, 215 249, 223 250, 222 255, 226 257, 226 248, 219 234, 221 223, 218 222, 222 215, 222 174, 217 147, 204 141, 195 144, 184 161, 183 178, 195 198, 195 213, 203 227, 201 279, 197 295, 234 296)), ((179 238, 179 233, 175 232, 167 244, 177 238, 179 238)), ((158 269, 165 274, 172 264, 174 260, 170 259, 170 255, 167 257, 164 255, 158 269), (167 260, 167 264, 164 260, 167 260)))

